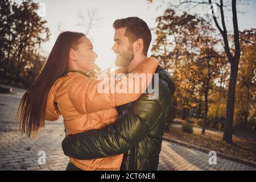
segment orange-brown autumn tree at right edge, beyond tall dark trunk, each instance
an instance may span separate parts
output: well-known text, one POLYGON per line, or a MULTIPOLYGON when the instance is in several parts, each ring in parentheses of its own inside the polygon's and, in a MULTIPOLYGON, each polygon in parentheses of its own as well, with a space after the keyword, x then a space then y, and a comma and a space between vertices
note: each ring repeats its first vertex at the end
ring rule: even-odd
POLYGON ((253 117, 256 93, 256 29, 240 32, 241 64, 236 90, 235 125, 253 117))

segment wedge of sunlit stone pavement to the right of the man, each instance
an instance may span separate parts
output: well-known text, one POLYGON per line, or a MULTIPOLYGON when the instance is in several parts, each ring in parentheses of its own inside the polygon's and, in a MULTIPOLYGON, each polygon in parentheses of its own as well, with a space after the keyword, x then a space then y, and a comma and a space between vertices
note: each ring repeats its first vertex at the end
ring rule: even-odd
POLYGON ((217 156, 217 164, 209 164, 204 152, 163 140, 158 170, 175 171, 256 171, 255 167, 217 156))

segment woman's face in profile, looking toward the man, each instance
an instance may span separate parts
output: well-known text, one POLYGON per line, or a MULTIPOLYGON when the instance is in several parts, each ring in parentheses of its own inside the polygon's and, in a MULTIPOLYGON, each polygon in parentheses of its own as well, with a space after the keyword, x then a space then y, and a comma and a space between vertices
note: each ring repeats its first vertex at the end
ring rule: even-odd
POLYGON ((86 36, 79 39, 79 44, 76 49, 71 48, 69 58, 71 64, 69 68, 77 69, 84 72, 92 72, 95 69, 95 59, 97 54, 93 51, 92 42, 86 36))

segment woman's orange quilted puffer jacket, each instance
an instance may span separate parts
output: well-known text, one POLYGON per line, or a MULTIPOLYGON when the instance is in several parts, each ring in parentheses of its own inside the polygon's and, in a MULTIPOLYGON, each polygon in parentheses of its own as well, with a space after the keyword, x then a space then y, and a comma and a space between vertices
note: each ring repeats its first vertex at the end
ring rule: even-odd
MULTIPOLYGON (((98 92, 98 85, 102 80, 87 77, 80 72, 68 72, 53 84, 48 94, 45 118, 48 121, 56 121, 61 114, 64 119, 66 135, 77 134, 82 131, 100 129, 113 123, 118 117, 115 106, 135 101, 151 83, 152 76, 158 67, 158 61, 154 58, 144 60, 132 73, 150 73, 146 80, 139 78, 138 74, 133 77, 126 75, 127 82, 120 80, 112 81, 115 85, 121 84, 121 88, 127 88, 130 81, 139 83, 140 92, 119 93, 98 92)), ((109 81, 112 82, 112 81, 109 81)), ((130 88, 129 88, 130 89, 130 88)), ((130 90, 129 90, 130 91, 130 90)), ((83 170, 119 170, 123 154, 108 156, 100 159, 79 160, 70 158, 70 162, 83 170)))

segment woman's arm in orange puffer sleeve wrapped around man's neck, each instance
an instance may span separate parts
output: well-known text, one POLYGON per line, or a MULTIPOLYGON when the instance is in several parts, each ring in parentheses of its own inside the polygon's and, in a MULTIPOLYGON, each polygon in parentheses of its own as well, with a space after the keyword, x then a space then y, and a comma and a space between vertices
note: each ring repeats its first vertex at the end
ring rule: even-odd
POLYGON ((119 80, 114 78, 104 80, 88 77, 75 78, 68 88, 69 98, 80 113, 92 113, 127 104, 142 95, 150 84, 157 67, 158 61, 148 58, 138 65, 132 72, 133 75, 126 75, 119 80), (145 74, 144 78, 142 78, 143 74, 145 74), (117 87, 121 90, 115 89, 117 87), (122 90, 125 90, 125 93, 122 93, 122 90))

